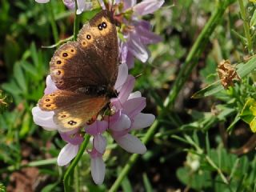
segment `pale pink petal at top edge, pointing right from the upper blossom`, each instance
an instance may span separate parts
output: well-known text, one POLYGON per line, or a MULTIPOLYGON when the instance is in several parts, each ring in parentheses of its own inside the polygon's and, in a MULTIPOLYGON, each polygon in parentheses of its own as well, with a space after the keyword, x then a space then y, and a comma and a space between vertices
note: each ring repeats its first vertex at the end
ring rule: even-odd
POLYGON ((152 14, 154 11, 158 10, 164 2, 164 0, 144 0, 135 5, 133 10, 134 13, 138 15, 152 14))

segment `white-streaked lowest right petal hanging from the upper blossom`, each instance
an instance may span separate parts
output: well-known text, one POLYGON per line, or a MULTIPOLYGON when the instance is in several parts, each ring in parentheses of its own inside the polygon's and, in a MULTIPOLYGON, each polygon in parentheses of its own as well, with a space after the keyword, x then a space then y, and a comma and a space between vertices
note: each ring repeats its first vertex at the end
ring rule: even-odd
POLYGON ((149 53, 146 50, 146 47, 142 44, 140 40, 140 35, 137 34, 135 31, 130 32, 128 49, 131 54, 134 54, 136 58, 138 58, 142 62, 146 62, 146 60, 149 58, 149 53))

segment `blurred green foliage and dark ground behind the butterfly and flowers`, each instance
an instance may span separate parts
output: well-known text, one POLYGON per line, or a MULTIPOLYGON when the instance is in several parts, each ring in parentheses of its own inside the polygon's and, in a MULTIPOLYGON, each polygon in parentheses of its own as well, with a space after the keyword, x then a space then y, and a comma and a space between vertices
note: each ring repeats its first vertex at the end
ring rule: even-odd
MULTIPOLYGON (((158 117, 182 63, 217 2, 166 1, 154 15, 146 16, 163 41, 150 46, 146 64, 136 61, 130 71, 134 76, 142 74, 134 90, 146 97, 144 113, 158 117)), ((254 4, 244 2, 251 17, 254 4)), ((89 12, 82 14, 80 26, 90 18, 89 12)), ((0 1, 0 191, 63 191, 66 168, 59 167, 56 158, 66 143, 58 132, 35 125, 31 114, 46 86, 55 49, 42 46, 54 44, 54 23, 58 39, 73 34, 74 14, 62 1, 0 1)), ((253 82, 248 80, 246 86, 211 97, 191 98, 218 79, 216 68, 222 59, 242 62, 249 55, 243 34, 238 2, 234 2, 210 35, 174 110, 159 119, 157 133, 146 145, 148 151, 140 156, 120 191, 255 191, 254 134, 242 120, 234 122, 245 103, 243 94, 248 93, 253 82)), ((146 129, 135 134, 142 138, 145 133, 146 129)), ((108 137, 104 184, 94 184, 90 157, 84 154, 75 171, 76 189, 106 191, 129 157, 108 137)))

